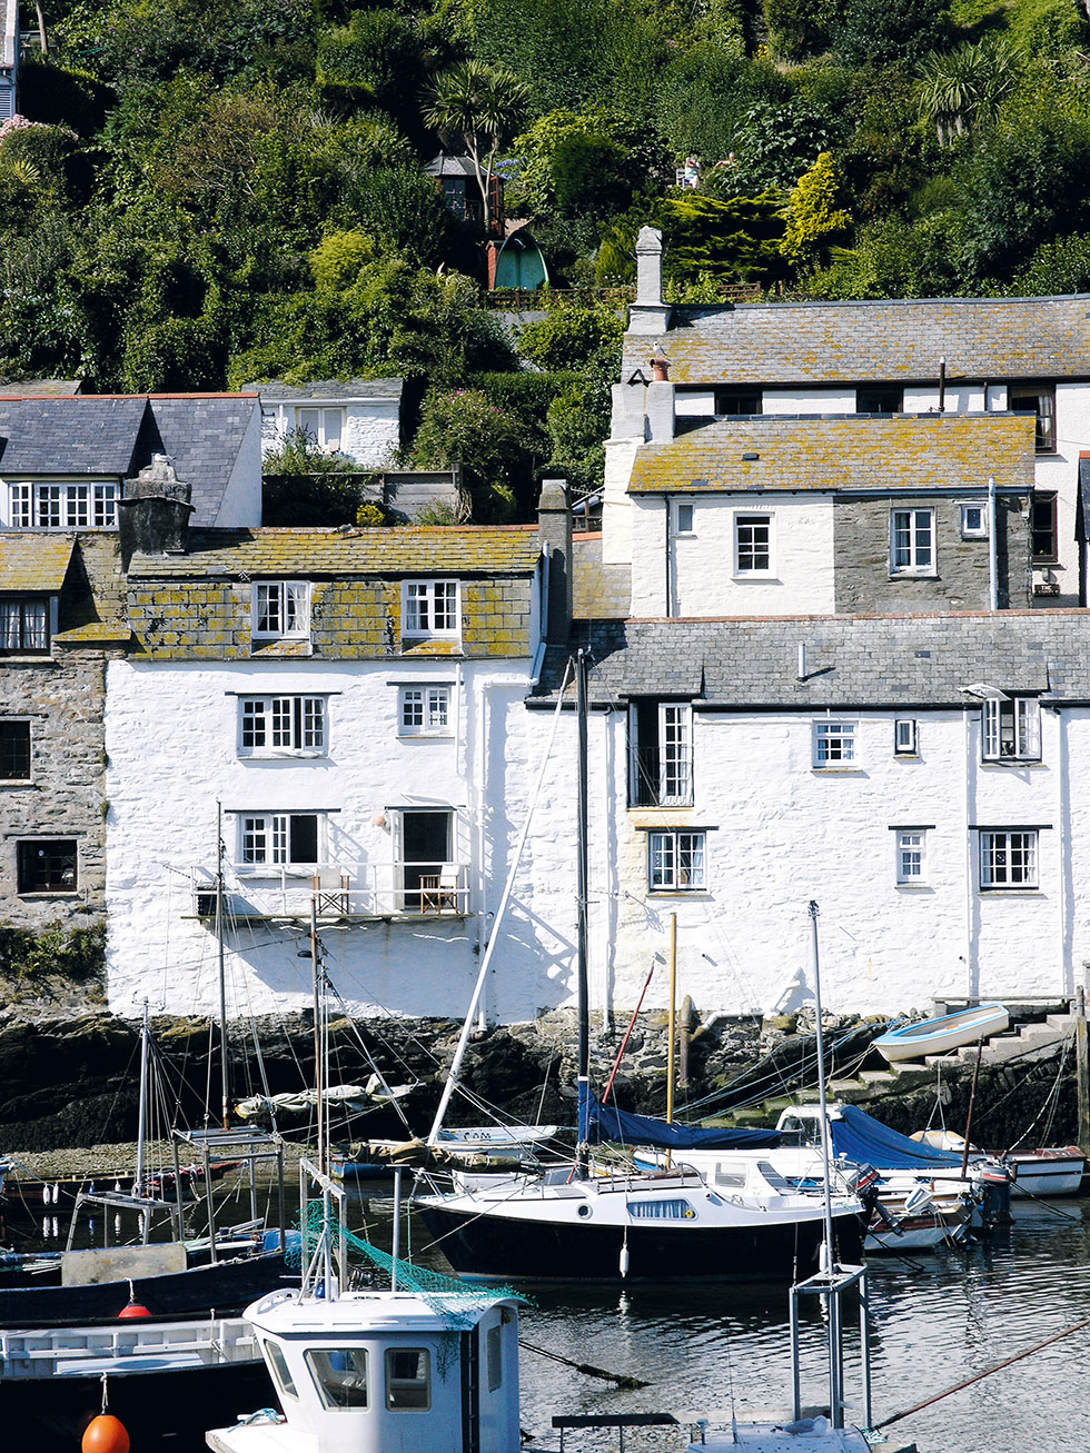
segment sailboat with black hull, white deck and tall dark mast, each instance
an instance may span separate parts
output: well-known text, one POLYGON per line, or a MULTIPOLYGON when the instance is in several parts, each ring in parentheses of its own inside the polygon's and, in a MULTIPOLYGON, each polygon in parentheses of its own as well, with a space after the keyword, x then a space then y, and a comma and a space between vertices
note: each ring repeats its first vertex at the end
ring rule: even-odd
MULTIPOLYGON (((791 1279, 799 1267, 817 1267, 824 1242, 836 1244, 847 1258, 857 1257, 863 1232, 859 1200, 837 1194, 827 1213, 817 1190, 791 1186, 769 1162, 759 1162, 743 1191, 712 1186, 683 1165, 651 1173, 612 1168, 600 1174, 592 1167, 587 674, 589 655, 578 651, 576 1159, 533 1174, 484 1177, 452 1193, 417 1196, 416 1207, 451 1266, 472 1280, 791 1279)), ((510 882, 509 878, 509 886, 510 882)), ((504 901, 506 892, 497 924, 504 901)), ((494 933, 493 943, 496 937, 494 933)), ((471 1005, 467 1026, 474 1010, 471 1005)), ((464 1037, 468 1037, 465 1030, 464 1037)), ((458 1064, 456 1055, 432 1139, 437 1138, 458 1064)))

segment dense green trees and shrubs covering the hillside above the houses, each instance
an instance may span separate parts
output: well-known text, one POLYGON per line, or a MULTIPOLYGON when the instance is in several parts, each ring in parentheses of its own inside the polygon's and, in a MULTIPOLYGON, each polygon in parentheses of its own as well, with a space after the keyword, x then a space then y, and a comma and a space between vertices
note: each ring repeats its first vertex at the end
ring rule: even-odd
POLYGON ((631 282, 645 222, 679 301, 1090 289, 1077 0, 42 9, 0 126, 0 376, 400 373, 410 458, 461 456, 478 519, 525 516, 545 466, 599 478, 621 324, 592 289, 631 282), (584 291, 517 353, 484 234, 421 171, 467 142, 584 291))

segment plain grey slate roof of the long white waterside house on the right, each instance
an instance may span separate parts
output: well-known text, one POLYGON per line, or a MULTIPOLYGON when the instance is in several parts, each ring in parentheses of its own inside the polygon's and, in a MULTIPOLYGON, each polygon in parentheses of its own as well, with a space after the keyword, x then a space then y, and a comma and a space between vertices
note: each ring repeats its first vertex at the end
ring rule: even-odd
MULTIPOLYGON (((1090 702, 1090 613, 1022 610, 943 616, 794 616, 594 622, 592 703, 692 697, 696 708, 846 711, 964 706, 962 686, 1090 702), (798 648, 807 679, 798 680, 798 648)), ((567 652, 551 648, 539 695, 555 693, 567 652)))

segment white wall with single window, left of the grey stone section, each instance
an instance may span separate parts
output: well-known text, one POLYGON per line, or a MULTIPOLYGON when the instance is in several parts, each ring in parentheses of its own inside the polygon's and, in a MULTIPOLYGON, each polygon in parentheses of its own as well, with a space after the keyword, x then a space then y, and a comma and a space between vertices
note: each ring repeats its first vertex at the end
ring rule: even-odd
MULTIPOLYGON (((666 604, 666 498, 634 495, 634 616, 831 615, 833 501, 801 494, 671 495, 693 504, 693 532, 670 530, 671 600, 666 604), (772 514, 773 570, 734 572, 735 514, 772 514)), ((673 525, 673 522, 671 522, 673 525)))

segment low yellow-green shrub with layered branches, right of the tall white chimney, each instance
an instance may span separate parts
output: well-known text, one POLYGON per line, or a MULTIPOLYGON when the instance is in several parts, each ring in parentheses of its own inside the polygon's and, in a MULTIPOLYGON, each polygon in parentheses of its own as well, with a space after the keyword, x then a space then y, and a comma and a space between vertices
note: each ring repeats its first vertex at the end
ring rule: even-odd
POLYGON ((671 278, 711 276, 719 282, 783 275, 785 222, 775 192, 727 202, 699 192, 666 201, 666 263, 671 278))

